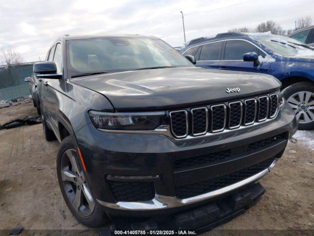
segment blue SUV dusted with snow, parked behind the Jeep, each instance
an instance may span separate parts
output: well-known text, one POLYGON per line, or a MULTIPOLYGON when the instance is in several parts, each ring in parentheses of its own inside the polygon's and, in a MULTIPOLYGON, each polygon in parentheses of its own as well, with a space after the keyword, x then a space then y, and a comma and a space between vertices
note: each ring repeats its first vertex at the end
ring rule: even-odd
POLYGON ((299 119, 299 129, 314 128, 314 48, 271 33, 220 33, 191 40, 181 50, 196 66, 270 74, 299 119))

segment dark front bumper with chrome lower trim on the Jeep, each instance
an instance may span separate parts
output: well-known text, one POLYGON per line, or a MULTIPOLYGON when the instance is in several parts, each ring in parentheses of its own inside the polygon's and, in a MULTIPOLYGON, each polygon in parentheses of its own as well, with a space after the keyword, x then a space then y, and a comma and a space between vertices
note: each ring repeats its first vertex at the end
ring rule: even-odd
POLYGON ((97 130, 91 123, 81 128, 76 137, 86 166, 86 179, 98 203, 111 214, 134 213, 140 216, 200 206, 255 182, 273 168, 296 129, 294 113, 285 104, 278 117, 271 122, 208 137, 172 140, 163 134, 107 133, 97 130), (251 143, 281 134, 286 135, 283 142, 254 151, 245 150, 251 143), (178 160, 224 150, 231 150, 235 157, 200 168, 174 171, 174 163, 178 160), (184 198, 177 196, 178 186, 229 175, 270 158, 273 160, 266 168, 250 177, 202 194, 184 198), (154 182, 155 198, 116 201, 108 176, 135 177, 132 181, 139 182, 147 177, 157 177, 151 180, 154 182))

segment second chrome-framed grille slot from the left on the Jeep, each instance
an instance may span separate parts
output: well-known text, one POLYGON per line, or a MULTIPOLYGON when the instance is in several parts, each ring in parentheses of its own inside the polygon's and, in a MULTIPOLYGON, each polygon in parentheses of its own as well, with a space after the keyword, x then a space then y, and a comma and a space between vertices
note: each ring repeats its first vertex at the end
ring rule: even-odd
POLYGON ((191 109, 191 114, 192 114, 192 135, 198 136, 198 135, 206 134, 208 130, 207 107, 191 109), (205 120, 204 120, 204 116, 205 116, 205 120), (203 132, 199 132, 199 131, 203 131, 203 132))

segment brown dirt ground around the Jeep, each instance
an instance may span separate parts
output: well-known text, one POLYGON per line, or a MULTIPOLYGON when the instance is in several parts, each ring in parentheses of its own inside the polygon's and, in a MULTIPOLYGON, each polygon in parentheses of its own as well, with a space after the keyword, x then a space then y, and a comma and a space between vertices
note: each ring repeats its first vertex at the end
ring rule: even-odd
MULTIPOLYGON (((3 108, 0 123, 35 114, 31 103, 3 108)), ((310 230, 314 234, 314 131, 298 131, 294 137, 297 143, 289 142, 273 171, 260 180, 266 188, 262 200, 202 235, 221 235, 221 230, 227 235, 255 232, 240 230, 310 230)), ((21 235, 51 235, 47 230, 98 235, 79 224, 62 199, 55 168, 58 146, 57 141, 45 141, 41 124, 0 130, 0 235, 8 235, 18 225, 24 227, 21 235)))

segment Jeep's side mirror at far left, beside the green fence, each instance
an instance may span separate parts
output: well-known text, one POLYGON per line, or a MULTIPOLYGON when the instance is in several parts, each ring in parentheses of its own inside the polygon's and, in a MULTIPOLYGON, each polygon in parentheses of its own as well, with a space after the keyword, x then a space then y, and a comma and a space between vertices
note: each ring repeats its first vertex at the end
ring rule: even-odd
POLYGON ((54 61, 42 61, 35 63, 33 65, 33 73, 39 78, 62 78, 62 74, 57 74, 57 66, 54 61))

